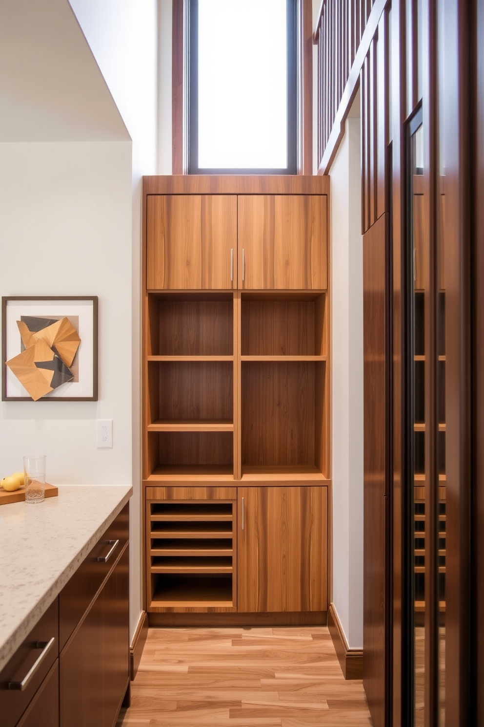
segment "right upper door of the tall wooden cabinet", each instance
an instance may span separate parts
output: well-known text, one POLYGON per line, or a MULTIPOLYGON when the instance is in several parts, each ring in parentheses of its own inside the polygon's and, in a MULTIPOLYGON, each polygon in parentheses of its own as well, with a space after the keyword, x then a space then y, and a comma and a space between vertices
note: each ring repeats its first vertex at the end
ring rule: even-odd
POLYGON ((238 197, 239 288, 327 288, 327 196, 238 197))

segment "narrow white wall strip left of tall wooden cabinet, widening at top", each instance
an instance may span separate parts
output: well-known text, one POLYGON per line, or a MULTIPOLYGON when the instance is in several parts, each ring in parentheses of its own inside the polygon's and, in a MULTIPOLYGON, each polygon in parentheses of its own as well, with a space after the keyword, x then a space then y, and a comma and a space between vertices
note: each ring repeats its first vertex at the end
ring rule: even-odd
POLYGON ((141 613, 141 192, 143 174, 155 174, 157 159, 156 0, 70 0, 91 51, 133 140, 129 252, 131 276, 123 295, 132 332, 124 339, 132 365, 132 482, 130 524, 130 630, 141 613))

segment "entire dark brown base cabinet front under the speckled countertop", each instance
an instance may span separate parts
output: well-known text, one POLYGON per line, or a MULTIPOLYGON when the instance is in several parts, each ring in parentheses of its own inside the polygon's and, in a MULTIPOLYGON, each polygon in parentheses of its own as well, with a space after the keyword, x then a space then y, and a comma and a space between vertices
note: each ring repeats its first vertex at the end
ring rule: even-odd
POLYGON ((1 727, 115 724, 129 683, 128 508, 1 670, 1 727))

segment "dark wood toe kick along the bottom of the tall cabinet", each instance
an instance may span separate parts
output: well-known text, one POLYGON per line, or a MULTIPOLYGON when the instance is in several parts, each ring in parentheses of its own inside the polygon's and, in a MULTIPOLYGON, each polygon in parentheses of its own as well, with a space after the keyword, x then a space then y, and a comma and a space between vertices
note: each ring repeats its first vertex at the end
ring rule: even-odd
POLYGON ((326 626, 326 611, 283 611, 271 614, 149 613, 149 626, 326 626))

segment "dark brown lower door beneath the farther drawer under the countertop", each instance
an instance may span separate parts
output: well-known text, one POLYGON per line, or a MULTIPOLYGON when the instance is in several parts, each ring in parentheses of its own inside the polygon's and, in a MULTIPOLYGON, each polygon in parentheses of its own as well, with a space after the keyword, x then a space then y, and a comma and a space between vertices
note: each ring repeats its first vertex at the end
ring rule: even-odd
POLYGON ((129 675, 128 546, 60 654, 61 727, 112 727, 129 675))

